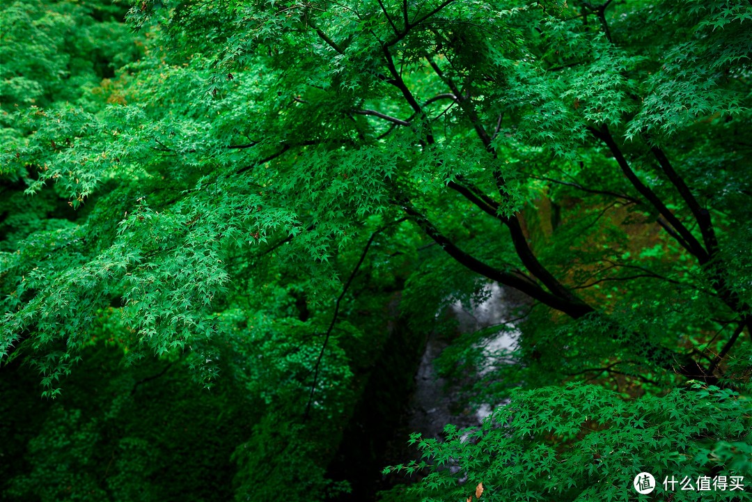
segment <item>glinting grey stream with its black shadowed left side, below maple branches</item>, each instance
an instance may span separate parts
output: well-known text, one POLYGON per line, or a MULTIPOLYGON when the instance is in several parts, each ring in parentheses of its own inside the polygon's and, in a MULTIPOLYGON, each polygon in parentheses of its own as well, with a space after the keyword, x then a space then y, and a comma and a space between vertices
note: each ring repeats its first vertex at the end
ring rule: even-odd
MULTIPOLYGON (((528 303, 523 296, 495 283, 487 286, 484 298, 484 301, 465 307, 459 303, 450 306, 448 315, 453 316, 458 325, 454 337, 505 324, 514 316, 517 307, 528 303)), ((465 382, 447 380, 439 376, 435 367, 436 358, 450 344, 450 337, 436 333, 425 337, 411 331, 407 324, 404 319, 390 323, 390 337, 378 367, 368 376, 362 398, 343 431, 328 476, 330 479, 347 479, 352 490, 349 494, 332 497, 332 501, 379 500, 378 492, 411 481, 396 474, 381 474, 387 465, 420 459, 420 452, 414 446, 408 446, 411 433, 441 438, 444 425, 478 426, 493 407, 499 405, 465 406, 460 392, 465 382)), ((508 362, 496 358, 495 352, 514 346, 516 335, 514 329, 499 329, 487 337, 482 350, 490 364, 477 368, 477 374, 493 369, 494 364, 508 362)))

